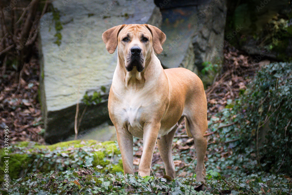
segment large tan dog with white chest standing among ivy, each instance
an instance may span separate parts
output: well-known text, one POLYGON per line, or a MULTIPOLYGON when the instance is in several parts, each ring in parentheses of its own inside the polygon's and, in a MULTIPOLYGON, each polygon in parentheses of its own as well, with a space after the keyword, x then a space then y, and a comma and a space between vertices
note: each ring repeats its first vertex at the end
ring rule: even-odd
POLYGON ((134 175, 133 136, 143 138, 139 175, 150 175, 157 141, 166 175, 175 177, 172 140, 185 118, 197 152, 197 181, 204 181, 207 142, 207 101, 202 81, 185 68, 164 70, 155 56, 165 34, 152 25, 119 25, 102 34, 107 51, 118 47, 118 63, 109 92, 109 116, 117 130, 124 173, 134 175))

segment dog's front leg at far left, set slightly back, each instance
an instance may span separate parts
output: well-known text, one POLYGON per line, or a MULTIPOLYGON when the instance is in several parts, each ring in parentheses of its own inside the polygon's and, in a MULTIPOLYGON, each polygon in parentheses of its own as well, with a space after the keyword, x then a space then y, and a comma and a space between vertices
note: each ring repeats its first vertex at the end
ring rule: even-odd
POLYGON ((133 136, 125 129, 117 129, 117 141, 122 155, 124 174, 134 175, 133 136))

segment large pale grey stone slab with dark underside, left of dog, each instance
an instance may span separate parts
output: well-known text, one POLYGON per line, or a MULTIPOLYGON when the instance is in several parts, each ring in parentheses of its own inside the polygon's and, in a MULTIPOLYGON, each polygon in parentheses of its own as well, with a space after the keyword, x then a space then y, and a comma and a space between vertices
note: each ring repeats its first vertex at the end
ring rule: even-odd
POLYGON ((151 0, 52 1, 54 11, 40 21, 41 104, 45 140, 56 143, 109 120, 107 96, 117 65, 102 33, 116 25, 148 23, 160 27, 161 13, 151 0), (86 106, 84 96, 91 99, 86 106), (94 99, 95 98, 95 99, 94 99))

